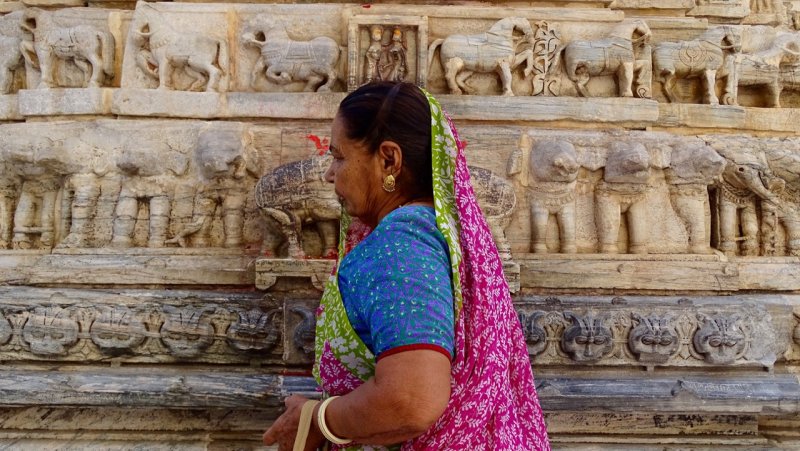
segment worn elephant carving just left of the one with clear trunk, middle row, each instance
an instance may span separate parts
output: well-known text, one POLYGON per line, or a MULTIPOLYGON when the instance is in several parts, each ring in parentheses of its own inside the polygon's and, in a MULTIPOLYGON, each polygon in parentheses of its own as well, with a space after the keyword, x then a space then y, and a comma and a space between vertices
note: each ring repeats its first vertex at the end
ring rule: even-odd
POLYGON ((672 149, 670 165, 664 173, 672 208, 686 227, 688 251, 692 254, 711 252, 706 227, 708 186, 716 182, 724 169, 725 159, 705 144, 678 144, 672 149))

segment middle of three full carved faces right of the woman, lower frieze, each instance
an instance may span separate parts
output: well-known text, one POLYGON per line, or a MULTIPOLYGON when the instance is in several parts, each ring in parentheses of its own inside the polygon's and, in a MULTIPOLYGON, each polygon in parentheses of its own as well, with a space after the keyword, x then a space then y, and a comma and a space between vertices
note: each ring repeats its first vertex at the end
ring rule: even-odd
POLYGON ((640 362, 665 363, 680 347, 672 315, 632 313, 638 323, 628 335, 628 346, 640 362))

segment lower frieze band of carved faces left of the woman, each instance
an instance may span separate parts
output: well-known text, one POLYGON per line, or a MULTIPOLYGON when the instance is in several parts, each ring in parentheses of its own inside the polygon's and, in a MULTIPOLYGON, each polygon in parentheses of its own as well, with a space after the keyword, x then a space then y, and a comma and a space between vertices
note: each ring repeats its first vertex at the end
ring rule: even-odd
MULTIPOLYGON (((308 345, 298 333, 284 333, 280 304, 263 295, 16 293, 0 302, 3 360, 274 364, 286 347, 308 345)), ((313 327, 311 343, 313 354, 313 327)))

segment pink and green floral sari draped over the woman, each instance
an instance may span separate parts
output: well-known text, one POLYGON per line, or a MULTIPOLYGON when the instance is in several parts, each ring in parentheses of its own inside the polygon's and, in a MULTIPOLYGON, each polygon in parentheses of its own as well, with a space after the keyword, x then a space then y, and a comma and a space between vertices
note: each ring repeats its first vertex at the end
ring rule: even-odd
MULTIPOLYGON (((525 337, 470 183, 463 146, 438 101, 425 94, 431 107, 436 223, 452 265, 455 356, 445 412, 402 449, 549 450, 525 337)), ((369 233, 344 216, 340 263, 369 233)), ((347 394, 374 374, 375 356, 347 319, 336 269, 317 312, 316 352, 314 375, 327 396, 347 394)))

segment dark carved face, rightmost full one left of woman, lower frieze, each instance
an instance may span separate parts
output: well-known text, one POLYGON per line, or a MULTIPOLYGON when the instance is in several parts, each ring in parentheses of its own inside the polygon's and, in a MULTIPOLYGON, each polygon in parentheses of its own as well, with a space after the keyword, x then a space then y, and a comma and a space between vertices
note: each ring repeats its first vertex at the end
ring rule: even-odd
POLYGON ((228 344, 242 351, 272 349, 280 336, 278 311, 252 309, 238 312, 238 320, 228 328, 228 344))

